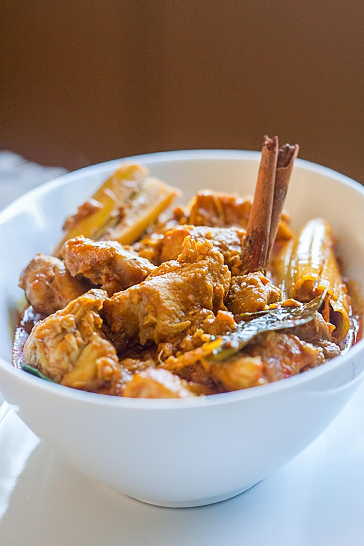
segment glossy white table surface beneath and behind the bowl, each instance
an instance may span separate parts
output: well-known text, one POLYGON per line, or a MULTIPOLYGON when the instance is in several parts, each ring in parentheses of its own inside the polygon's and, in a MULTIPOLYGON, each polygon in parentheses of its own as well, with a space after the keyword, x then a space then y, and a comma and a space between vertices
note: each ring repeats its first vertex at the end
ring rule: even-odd
MULTIPOLYGON (((6 178, 1 167, 0 155, 0 209, 40 180, 40 170, 32 183, 24 170, 23 186, 11 191, 10 174, 6 178)), ((41 181, 61 171, 44 171, 41 181)), ((324 434, 280 471, 229 501, 187 509, 145 505, 82 476, 0 400, 0 544, 361 546, 364 385, 324 434)))

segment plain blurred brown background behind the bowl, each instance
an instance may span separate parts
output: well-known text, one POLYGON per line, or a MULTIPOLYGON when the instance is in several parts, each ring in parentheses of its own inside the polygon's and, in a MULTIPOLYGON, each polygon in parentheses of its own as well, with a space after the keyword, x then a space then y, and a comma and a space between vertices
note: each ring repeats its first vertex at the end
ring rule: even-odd
POLYGON ((364 182, 362 0, 0 6, 0 149, 75 169, 267 132, 364 182))

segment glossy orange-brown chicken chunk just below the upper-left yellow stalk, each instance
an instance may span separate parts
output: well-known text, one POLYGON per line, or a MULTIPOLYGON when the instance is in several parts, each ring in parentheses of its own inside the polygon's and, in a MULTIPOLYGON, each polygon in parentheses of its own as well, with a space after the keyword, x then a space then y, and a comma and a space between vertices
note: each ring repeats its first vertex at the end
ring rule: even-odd
POLYGON ((72 276, 82 274, 109 296, 144 281, 155 269, 149 260, 116 241, 93 241, 82 235, 65 242, 62 255, 72 276))

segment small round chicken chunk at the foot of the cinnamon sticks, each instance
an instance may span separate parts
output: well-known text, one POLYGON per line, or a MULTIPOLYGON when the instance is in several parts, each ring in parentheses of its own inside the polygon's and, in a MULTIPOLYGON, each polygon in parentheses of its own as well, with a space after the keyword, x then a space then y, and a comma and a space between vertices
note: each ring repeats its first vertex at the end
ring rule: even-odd
POLYGON ((264 311, 276 303, 281 290, 260 271, 231 278, 228 309, 234 314, 264 311))

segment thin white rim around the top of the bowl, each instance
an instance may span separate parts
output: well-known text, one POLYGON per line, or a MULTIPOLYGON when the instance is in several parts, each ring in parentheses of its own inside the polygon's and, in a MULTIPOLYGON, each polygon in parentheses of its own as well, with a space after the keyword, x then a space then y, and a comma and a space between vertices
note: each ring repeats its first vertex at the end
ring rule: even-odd
MULTIPOLYGON (((103 171, 106 167, 110 169, 117 168, 121 161, 159 163, 164 161, 205 161, 206 159, 208 159, 209 161, 214 161, 226 159, 228 161, 253 160, 258 162, 260 156, 260 152, 251 150, 176 150, 145 153, 141 155, 122 157, 119 159, 112 159, 110 161, 105 161, 94 165, 88 165, 87 167, 83 167, 82 169, 77 169, 75 171, 71 171, 70 173, 65 173, 61 176, 57 176, 55 179, 50 180, 49 182, 45 182, 44 184, 31 189, 31 191, 15 199, 12 203, 5 207, 5 209, 0 211, 0 225, 6 222, 9 218, 16 215, 16 213, 19 211, 19 206, 22 205, 23 201, 28 201, 29 198, 31 198, 32 200, 37 199, 40 197, 40 195, 48 193, 59 186, 67 185, 67 183, 69 183, 72 179, 79 179, 80 177, 82 178, 82 176, 85 174, 97 174, 98 172, 103 171)), ((344 186, 349 186, 351 189, 362 194, 364 197, 364 187, 359 182, 356 182, 348 176, 338 173, 333 169, 329 169, 317 163, 306 161, 305 159, 296 159, 295 168, 297 167, 311 173, 318 173, 338 182, 341 182, 344 186)), ((260 385, 259 388, 250 387, 248 389, 230 391, 228 393, 212 394, 209 396, 197 396, 187 399, 138 399, 122 396, 110 396, 106 394, 89 393, 88 391, 73 389, 70 387, 65 387, 64 385, 59 385, 57 383, 44 381, 44 379, 32 376, 30 373, 27 373, 23 370, 16 369, 13 364, 7 362, 3 358, 0 358, 0 367, 2 367, 5 372, 13 375, 15 380, 17 379, 19 381, 23 381, 28 384, 29 387, 39 388, 41 390, 47 391, 47 393, 49 394, 53 393, 54 395, 58 395, 66 399, 73 399, 74 401, 96 403, 96 405, 99 406, 101 405, 123 407, 129 409, 180 410, 181 408, 217 406, 229 402, 243 401, 264 396, 265 394, 268 395, 277 393, 281 390, 294 387, 295 385, 301 385, 307 382, 311 382, 314 381, 315 378, 323 376, 333 369, 341 366, 344 360, 351 359, 351 357, 354 358, 363 349, 364 338, 357 342, 355 346, 352 347, 350 351, 348 351, 348 353, 344 355, 339 355, 329 362, 312 370, 307 370, 305 371, 305 373, 301 373, 297 376, 285 378, 284 380, 281 379, 280 381, 267 383, 265 385, 260 385)))

